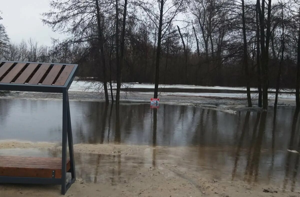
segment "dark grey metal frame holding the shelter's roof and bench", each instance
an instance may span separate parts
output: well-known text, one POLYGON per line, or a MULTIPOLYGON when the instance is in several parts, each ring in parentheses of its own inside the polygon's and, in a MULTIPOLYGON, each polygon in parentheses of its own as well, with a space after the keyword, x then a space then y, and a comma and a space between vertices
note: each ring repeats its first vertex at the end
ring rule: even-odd
MULTIPOLYGON (((13 62, 13 61, 2 61, 13 62)), ((14 63, 29 63, 29 62, 14 62, 14 63)), ((38 62, 30 62, 38 63, 38 62)), ((40 63, 39 63, 40 64, 40 63)), ((54 64, 54 63, 49 63, 54 64)), ((58 64, 58 63, 55 63, 58 64)), ((72 183, 76 180, 75 163, 74 163, 74 150, 73 150, 73 137, 70 119, 70 104, 68 89, 75 78, 75 72, 78 69, 77 64, 62 64, 74 65, 74 69, 67 78, 64 86, 58 85, 31 85, 31 84, 13 84, 13 83, 0 83, 0 90, 9 91, 31 91, 31 92, 51 92, 62 93, 62 155, 61 155, 61 178, 55 178, 55 171, 53 171, 52 178, 35 178, 35 177, 6 177, 0 176, 0 183, 26 183, 26 184, 58 184, 61 185, 61 194, 64 195, 70 188, 72 183), (67 141, 69 145, 70 154, 70 170, 67 171, 67 141), (71 179, 66 180, 67 172, 71 173, 71 179)))

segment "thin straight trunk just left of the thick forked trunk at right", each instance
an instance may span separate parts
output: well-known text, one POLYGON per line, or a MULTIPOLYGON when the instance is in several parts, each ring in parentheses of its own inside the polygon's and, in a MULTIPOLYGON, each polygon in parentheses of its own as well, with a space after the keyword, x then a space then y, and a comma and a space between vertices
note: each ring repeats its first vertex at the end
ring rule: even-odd
POLYGON ((262 82, 261 82, 261 66, 260 66, 260 38, 259 38, 259 18, 256 8, 256 63, 257 63, 257 88, 258 88, 258 106, 262 107, 262 82))

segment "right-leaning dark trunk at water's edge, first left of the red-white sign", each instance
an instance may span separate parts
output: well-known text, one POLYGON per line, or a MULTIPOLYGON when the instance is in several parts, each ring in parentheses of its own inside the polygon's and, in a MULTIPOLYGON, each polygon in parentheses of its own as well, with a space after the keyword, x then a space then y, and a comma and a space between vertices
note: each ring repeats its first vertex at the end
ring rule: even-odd
POLYGON ((125 25, 126 25, 126 13, 127 12, 127 0, 124 0, 124 12, 122 21, 122 40, 121 40, 121 61, 119 66, 119 72, 117 72, 117 93, 116 93, 116 103, 120 102, 120 89, 122 81, 122 69, 124 65, 124 52, 125 52, 125 25))

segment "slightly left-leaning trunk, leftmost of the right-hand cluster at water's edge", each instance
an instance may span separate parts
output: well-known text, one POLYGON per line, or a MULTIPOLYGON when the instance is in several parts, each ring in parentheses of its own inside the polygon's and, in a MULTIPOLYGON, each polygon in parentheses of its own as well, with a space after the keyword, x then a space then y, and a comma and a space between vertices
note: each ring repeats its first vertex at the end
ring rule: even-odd
POLYGON ((245 21, 245 5, 244 0, 242 0, 242 22, 243 22, 243 38, 244 38, 244 68, 246 75, 246 87, 247 87, 247 101, 248 107, 252 107, 251 95, 250 95, 250 77, 248 70, 248 54, 247 54, 247 38, 246 38, 246 21, 245 21))

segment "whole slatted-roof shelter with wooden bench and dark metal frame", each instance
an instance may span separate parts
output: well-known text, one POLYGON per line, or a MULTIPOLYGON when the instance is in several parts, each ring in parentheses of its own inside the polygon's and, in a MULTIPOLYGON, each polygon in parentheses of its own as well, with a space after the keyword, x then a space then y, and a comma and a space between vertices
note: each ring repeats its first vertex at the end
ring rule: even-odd
POLYGON ((61 158, 0 156, 0 183, 60 184, 64 195, 75 182, 68 89, 77 68, 76 64, 0 61, 0 90, 62 93, 63 99, 61 158))

